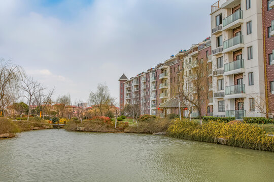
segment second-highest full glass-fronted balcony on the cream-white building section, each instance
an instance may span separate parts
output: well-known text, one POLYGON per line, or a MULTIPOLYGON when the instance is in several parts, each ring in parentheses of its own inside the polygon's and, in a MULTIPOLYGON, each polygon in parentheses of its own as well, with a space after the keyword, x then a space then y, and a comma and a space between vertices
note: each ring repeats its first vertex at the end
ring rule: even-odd
POLYGON ((237 35, 224 41, 223 53, 234 52, 244 48, 244 35, 237 35))

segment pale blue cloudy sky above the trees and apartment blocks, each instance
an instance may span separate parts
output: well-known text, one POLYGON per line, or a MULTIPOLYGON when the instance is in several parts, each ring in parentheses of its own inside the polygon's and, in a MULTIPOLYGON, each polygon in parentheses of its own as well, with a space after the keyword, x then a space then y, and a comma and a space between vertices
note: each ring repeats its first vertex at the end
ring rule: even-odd
POLYGON ((86 102, 104 83, 118 101, 123 73, 133 77, 211 36, 215 1, 2 0, 0 58, 55 87, 53 99, 86 102))

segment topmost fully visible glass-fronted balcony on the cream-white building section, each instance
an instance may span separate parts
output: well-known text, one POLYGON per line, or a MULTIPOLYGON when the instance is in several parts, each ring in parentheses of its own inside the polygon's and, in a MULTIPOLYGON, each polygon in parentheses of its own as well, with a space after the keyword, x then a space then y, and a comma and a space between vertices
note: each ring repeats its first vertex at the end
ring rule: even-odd
POLYGON ((236 28, 237 26, 244 23, 243 20, 243 11, 236 11, 232 15, 223 19, 223 28, 222 31, 236 28))

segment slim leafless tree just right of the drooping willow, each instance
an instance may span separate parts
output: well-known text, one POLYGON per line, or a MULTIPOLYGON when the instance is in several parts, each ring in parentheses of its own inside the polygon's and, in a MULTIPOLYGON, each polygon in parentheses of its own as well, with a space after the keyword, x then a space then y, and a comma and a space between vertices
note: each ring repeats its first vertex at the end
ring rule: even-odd
POLYGON ((39 92, 38 88, 41 88, 40 85, 41 83, 34 81, 32 77, 25 77, 22 80, 21 89, 23 90, 23 97, 26 98, 29 107, 27 121, 31 112, 30 104, 35 99, 35 94, 39 92))

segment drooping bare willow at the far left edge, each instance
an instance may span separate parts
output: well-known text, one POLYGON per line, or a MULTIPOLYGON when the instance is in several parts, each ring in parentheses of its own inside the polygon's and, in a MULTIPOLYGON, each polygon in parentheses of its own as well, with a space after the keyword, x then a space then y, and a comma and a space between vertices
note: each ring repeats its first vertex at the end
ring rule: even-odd
POLYGON ((11 61, 0 60, 0 110, 4 110, 18 98, 20 81, 24 76, 20 66, 11 64, 11 61))

